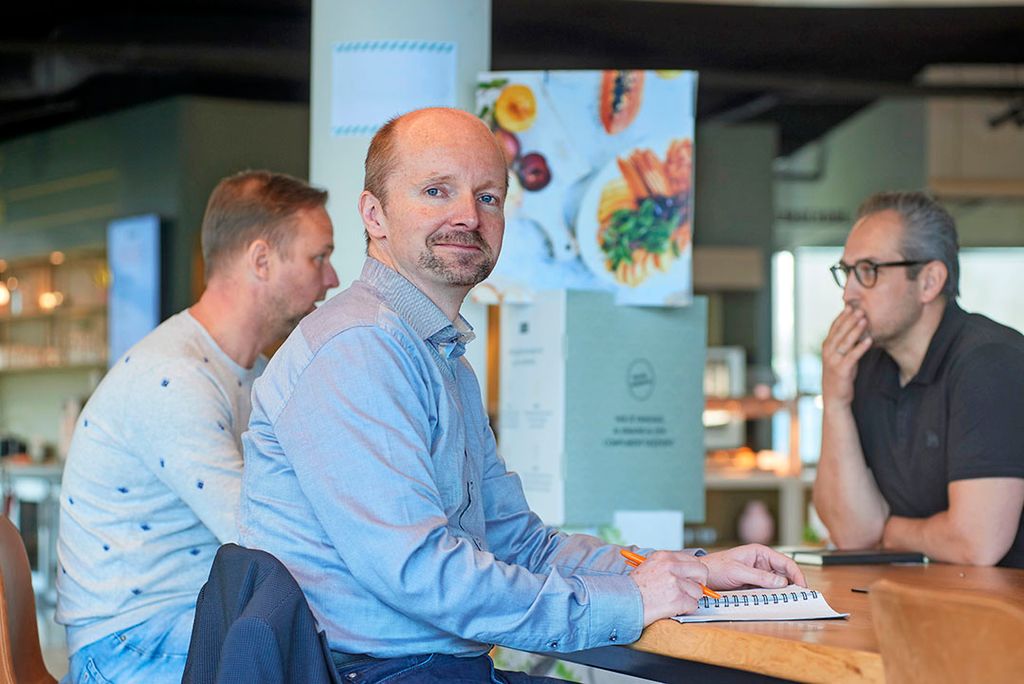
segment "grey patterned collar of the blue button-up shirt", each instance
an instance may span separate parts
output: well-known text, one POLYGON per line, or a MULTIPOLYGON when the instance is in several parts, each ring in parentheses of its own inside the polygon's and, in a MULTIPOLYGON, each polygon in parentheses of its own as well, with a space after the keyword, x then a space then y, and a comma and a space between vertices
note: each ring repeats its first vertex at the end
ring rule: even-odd
POLYGON ((461 314, 455 323, 449 320, 422 290, 377 259, 367 257, 359 280, 377 290, 388 306, 442 356, 462 356, 466 345, 476 338, 473 327, 461 314))

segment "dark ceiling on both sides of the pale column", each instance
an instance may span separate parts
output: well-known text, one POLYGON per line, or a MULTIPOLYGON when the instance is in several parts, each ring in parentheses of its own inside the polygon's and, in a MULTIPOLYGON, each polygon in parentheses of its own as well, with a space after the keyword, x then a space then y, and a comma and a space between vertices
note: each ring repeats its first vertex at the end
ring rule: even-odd
MULTIPOLYGON (((309 96, 310 0, 2 5, 0 139, 173 94, 309 96)), ((774 122, 782 154, 883 95, 1024 96, 915 81, 929 65, 1024 62, 1024 5, 494 0, 492 24, 494 69, 698 70, 698 118, 774 122)))

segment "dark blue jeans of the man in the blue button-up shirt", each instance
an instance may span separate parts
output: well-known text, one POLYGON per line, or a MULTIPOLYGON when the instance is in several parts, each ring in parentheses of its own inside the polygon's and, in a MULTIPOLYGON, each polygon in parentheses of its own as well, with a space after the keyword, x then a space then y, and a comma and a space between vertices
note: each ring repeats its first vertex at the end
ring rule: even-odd
POLYGON ((370 658, 364 662, 338 667, 341 681, 348 684, 397 684, 398 682, 437 682, 438 684, 542 684, 564 682, 551 677, 530 677, 522 672, 495 670, 489 655, 456 657, 430 653, 387 659, 370 658))

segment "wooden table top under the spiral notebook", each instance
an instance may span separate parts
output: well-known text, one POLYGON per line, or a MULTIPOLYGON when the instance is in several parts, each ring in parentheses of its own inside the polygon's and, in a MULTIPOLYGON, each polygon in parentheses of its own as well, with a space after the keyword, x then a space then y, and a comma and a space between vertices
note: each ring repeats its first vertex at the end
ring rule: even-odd
POLYGON ((871 625, 869 588, 883 578, 936 589, 997 595, 1024 605, 1024 570, 967 565, 801 566, 812 589, 821 591, 846 619, 681 625, 663 619, 631 646, 608 646, 568 654, 570 659, 654 681, 884 682, 885 672, 871 625), (699 677, 700 679, 695 679, 699 677))

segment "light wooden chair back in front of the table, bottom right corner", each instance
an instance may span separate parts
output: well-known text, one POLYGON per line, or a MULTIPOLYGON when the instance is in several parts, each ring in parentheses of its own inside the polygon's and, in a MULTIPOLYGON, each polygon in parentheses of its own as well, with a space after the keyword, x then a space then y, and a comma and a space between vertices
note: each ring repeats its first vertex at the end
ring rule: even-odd
POLYGON ((1024 601, 882 580, 870 603, 887 684, 1024 677, 1024 601))

